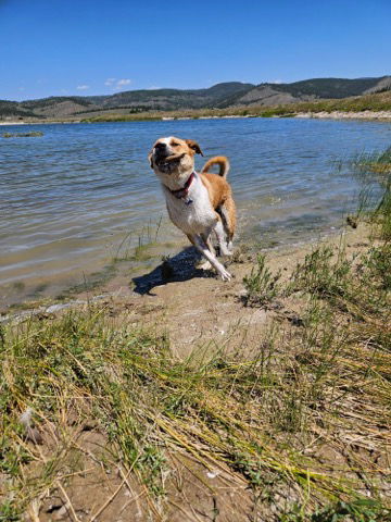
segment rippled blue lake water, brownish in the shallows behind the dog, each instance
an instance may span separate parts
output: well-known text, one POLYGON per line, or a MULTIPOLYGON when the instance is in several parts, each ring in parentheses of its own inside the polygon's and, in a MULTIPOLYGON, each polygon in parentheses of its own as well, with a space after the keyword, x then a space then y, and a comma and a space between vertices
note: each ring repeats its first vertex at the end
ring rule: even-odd
POLYGON ((109 273, 115 260, 128 260, 129 273, 156 265, 186 244, 147 160, 157 137, 198 140, 198 169, 212 156, 229 158, 238 241, 260 248, 338 228, 360 186, 336 161, 391 142, 390 123, 295 119, 12 125, 0 135, 26 129, 43 136, 0 137, 3 304, 55 296, 109 273), (130 259, 148 243, 153 256, 130 259))

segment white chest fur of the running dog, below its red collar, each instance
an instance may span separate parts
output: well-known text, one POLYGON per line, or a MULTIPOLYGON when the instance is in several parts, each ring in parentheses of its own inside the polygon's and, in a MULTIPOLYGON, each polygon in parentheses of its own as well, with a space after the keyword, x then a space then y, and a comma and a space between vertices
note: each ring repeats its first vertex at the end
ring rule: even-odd
POLYGON ((167 210, 172 222, 185 234, 200 234, 216 224, 216 213, 212 208, 206 187, 198 174, 189 187, 186 198, 178 199, 164 185, 167 210))

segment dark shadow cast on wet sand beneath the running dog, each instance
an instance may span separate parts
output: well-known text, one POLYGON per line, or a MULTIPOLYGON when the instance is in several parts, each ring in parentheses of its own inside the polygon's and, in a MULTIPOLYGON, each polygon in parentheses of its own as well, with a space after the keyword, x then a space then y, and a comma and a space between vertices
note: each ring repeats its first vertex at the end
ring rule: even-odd
POLYGON ((186 247, 173 258, 163 260, 163 262, 148 274, 134 277, 134 291, 140 295, 150 295, 155 286, 165 285, 178 281, 188 281, 193 277, 211 277, 213 272, 197 269, 195 263, 201 259, 201 254, 194 247, 186 247))

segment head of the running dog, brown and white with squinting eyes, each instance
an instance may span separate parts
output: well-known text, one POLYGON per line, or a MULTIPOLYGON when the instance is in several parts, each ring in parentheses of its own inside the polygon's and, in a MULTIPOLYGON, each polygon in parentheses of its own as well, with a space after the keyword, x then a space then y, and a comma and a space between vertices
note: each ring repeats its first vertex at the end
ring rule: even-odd
POLYGON ((155 141, 148 159, 151 169, 162 181, 174 181, 193 171, 194 154, 203 156, 197 141, 169 136, 155 141))

